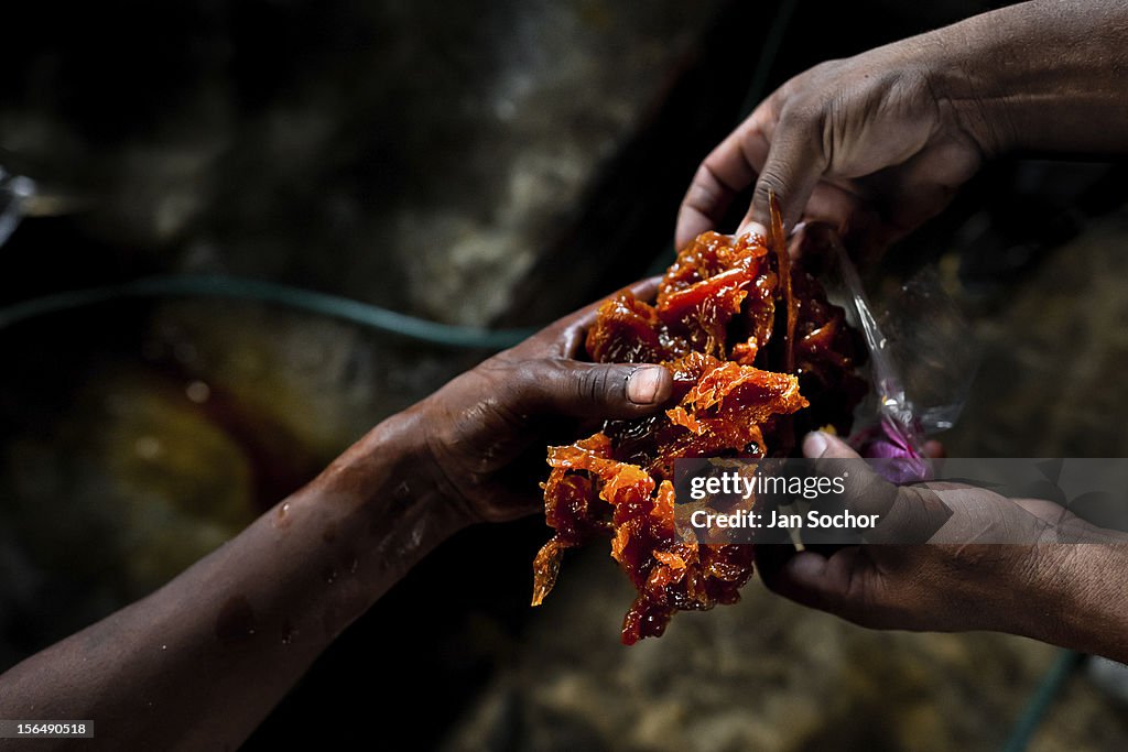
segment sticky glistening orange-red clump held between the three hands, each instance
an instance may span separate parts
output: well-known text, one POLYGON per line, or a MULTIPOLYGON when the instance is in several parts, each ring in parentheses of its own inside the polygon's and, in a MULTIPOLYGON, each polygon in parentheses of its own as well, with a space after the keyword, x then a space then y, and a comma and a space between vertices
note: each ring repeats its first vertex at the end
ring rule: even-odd
POLYGON ((864 348, 813 274, 829 258, 827 236, 805 232, 792 262, 774 225, 770 244, 706 232, 678 255, 653 304, 620 292, 599 309, 588 356, 660 363, 675 396, 664 413, 609 421, 548 448, 543 487, 555 534, 534 561, 534 605, 553 589, 564 551, 600 538, 638 591, 623 622, 627 645, 660 636, 676 611, 734 603, 754 547, 676 534, 673 461, 786 457, 807 431, 848 432, 865 392, 855 374, 864 348))

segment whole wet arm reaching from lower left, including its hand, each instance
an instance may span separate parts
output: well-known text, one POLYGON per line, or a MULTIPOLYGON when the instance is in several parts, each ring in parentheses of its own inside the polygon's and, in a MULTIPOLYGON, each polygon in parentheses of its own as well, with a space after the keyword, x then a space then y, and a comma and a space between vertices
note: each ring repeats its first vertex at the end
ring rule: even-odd
POLYGON ((238 746, 429 550, 536 508, 538 415, 635 417, 666 401, 660 366, 572 360, 592 315, 385 421, 153 594, 0 675, 0 718, 89 718, 91 749, 238 746))

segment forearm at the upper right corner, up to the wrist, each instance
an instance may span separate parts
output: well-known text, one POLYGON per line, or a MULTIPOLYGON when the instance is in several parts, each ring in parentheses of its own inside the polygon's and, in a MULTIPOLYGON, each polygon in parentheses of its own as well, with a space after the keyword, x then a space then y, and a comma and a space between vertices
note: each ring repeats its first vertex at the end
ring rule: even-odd
POLYGON ((1128 152, 1128 3, 1036 0, 906 43, 988 156, 1128 152))

